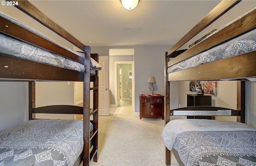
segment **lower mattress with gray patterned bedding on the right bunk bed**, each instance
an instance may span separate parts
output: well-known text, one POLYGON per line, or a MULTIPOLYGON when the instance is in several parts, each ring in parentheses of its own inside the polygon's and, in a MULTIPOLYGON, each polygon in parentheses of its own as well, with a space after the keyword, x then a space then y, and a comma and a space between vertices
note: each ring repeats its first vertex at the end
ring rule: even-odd
POLYGON ((256 165, 256 128, 218 120, 172 121, 162 138, 169 150, 178 152, 184 166, 256 165))

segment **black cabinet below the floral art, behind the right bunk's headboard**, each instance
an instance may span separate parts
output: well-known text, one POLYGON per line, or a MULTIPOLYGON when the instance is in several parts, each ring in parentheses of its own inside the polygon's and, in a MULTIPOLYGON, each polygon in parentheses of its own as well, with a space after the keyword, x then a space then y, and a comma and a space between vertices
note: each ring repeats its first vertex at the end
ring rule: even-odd
MULTIPOLYGON (((187 106, 212 106, 212 96, 187 94, 187 106)), ((187 119, 212 119, 212 116, 187 116, 187 119)))

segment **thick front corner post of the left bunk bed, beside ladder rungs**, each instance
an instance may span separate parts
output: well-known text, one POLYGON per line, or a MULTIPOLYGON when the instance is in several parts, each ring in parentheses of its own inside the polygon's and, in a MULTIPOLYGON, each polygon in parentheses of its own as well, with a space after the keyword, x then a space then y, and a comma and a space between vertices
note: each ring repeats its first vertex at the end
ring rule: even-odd
POLYGON ((90 163, 90 46, 84 46, 84 161, 83 166, 90 163))

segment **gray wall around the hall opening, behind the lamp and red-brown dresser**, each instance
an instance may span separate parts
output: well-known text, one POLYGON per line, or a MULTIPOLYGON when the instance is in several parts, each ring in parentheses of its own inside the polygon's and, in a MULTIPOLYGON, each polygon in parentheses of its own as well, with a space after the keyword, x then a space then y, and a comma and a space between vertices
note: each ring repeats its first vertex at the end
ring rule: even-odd
MULTIPOLYGON (((99 56, 108 56, 110 48, 134 48, 134 110, 136 115, 140 112, 139 94, 149 94, 148 77, 154 76, 156 83, 154 84, 154 94, 164 95, 164 71, 165 58, 164 53, 170 49, 171 46, 119 46, 119 47, 91 47, 92 53, 98 53, 99 56)), ((120 61, 120 60, 115 60, 120 61)), ((123 60, 129 61, 129 60, 123 60)), ((113 64, 110 63, 110 68, 113 64)), ((114 75, 110 71, 111 75, 114 75)), ((114 78, 114 76, 113 76, 114 78)), ((111 80, 111 79, 110 79, 111 80)), ((110 82, 110 87, 112 83, 110 82)), ((114 85, 113 85, 114 86, 114 85)), ((111 88, 112 91, 112 88, 111 88)), ((112 100, 112 98, 111 98, 112 100)), ((114 99, 113 99, 114 100, 114 99)))

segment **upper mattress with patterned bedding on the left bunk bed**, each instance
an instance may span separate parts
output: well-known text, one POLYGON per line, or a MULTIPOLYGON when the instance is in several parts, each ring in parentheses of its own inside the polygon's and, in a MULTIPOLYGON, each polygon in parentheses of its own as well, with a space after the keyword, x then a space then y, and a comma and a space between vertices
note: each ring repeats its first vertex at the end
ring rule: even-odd
MULTIPOLYGON (((46 40, 48 40, 62 48, 65 48, 66 50, 76 54, 77 56, 81 56, 84 58, 84 54, 82 54, 80 52, 76 52, 66 46, 60 45, 59 43, 57 43, 57 42, 53 41, 52 39, 48 38, 47 36, 45 36, 44 34, 31 28, 30 26, 27 26, 26 24, 23 24, 22 22, 14 19, 2 12, 0 12, 0 16, 6 18, 7 20, 12 21, 13 23, 21 26, 22 28, 26 28, 27 30, 37 34, 38 36, 40 36, 42 38, 45 38, 46 40)), ((0 54, 15 56, 15 57, 23 58, 26 60, 32 60, 34 62, 50 64, 53 66, 76 70, 78 72, 84 72, 83 64, 80 64, 74 60, 65 58, 58 54, 54 54, 54 53, 44 50, 40 47, 36 47, 32 44, 23 42, 21 40, 18 40, 16 38, 8 36, 4 33, 0 33, 0 54)), ((96 73, 95 70, 101 70, 101 66, 91 58, 91 71, 90 72, 92 74, 95 74, 96 73)))

